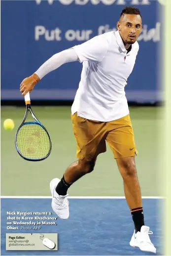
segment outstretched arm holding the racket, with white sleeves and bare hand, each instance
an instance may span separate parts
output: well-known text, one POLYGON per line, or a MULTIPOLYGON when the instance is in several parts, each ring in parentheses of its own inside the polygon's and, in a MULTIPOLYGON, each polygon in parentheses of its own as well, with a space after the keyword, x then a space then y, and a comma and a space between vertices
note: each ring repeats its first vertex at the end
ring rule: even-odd
POLYGON ((25 78, 20 85, 20 92, 25 96, 31 92, 35 84, 51 71, 59 68, 65 63, 79 60, 99 62, 103 59, 108 48, 105 37, 97 36, 91 40, 75 45, 73 48, 54 54, 50 59, 44 62, 41 67, 30 77, 25 78))

